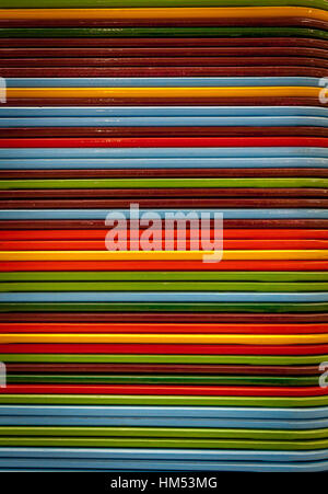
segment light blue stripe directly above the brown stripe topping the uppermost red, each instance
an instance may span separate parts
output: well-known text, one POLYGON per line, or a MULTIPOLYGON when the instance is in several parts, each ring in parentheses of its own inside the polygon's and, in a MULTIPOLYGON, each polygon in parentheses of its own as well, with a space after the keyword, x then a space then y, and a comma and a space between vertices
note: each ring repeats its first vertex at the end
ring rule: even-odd
POLYGON ((328 127, 328 118, 298 117, 31 117, 0 118, 0 127, 328 127))

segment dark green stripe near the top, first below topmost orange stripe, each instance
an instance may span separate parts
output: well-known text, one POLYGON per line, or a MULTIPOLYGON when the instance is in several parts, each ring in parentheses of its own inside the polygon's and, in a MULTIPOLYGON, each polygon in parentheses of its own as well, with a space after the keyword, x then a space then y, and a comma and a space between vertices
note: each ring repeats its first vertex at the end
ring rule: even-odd
MULTIPOLYGON (((302 36, 328 39, 324 30, 304 27, 3 27, 0 37, 261 37, 302 36)), ((243 43, 243 42, 242 42, 243 43)))

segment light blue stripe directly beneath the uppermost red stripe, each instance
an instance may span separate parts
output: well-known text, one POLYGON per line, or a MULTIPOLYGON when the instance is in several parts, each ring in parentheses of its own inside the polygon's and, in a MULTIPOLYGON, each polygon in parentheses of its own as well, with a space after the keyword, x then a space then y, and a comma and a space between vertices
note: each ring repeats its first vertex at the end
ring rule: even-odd
POLYGON ((0 159, 34 158, 328 158, 328 148, 2 148, 0 159))

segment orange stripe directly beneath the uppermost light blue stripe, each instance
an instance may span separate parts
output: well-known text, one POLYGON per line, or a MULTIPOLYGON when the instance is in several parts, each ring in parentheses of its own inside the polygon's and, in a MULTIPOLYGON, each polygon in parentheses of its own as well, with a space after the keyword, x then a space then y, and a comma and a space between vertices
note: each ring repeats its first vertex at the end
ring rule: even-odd
POLYGON ((8 97, 239 97, 314 96, 321 88, 9 88, 8 97))

